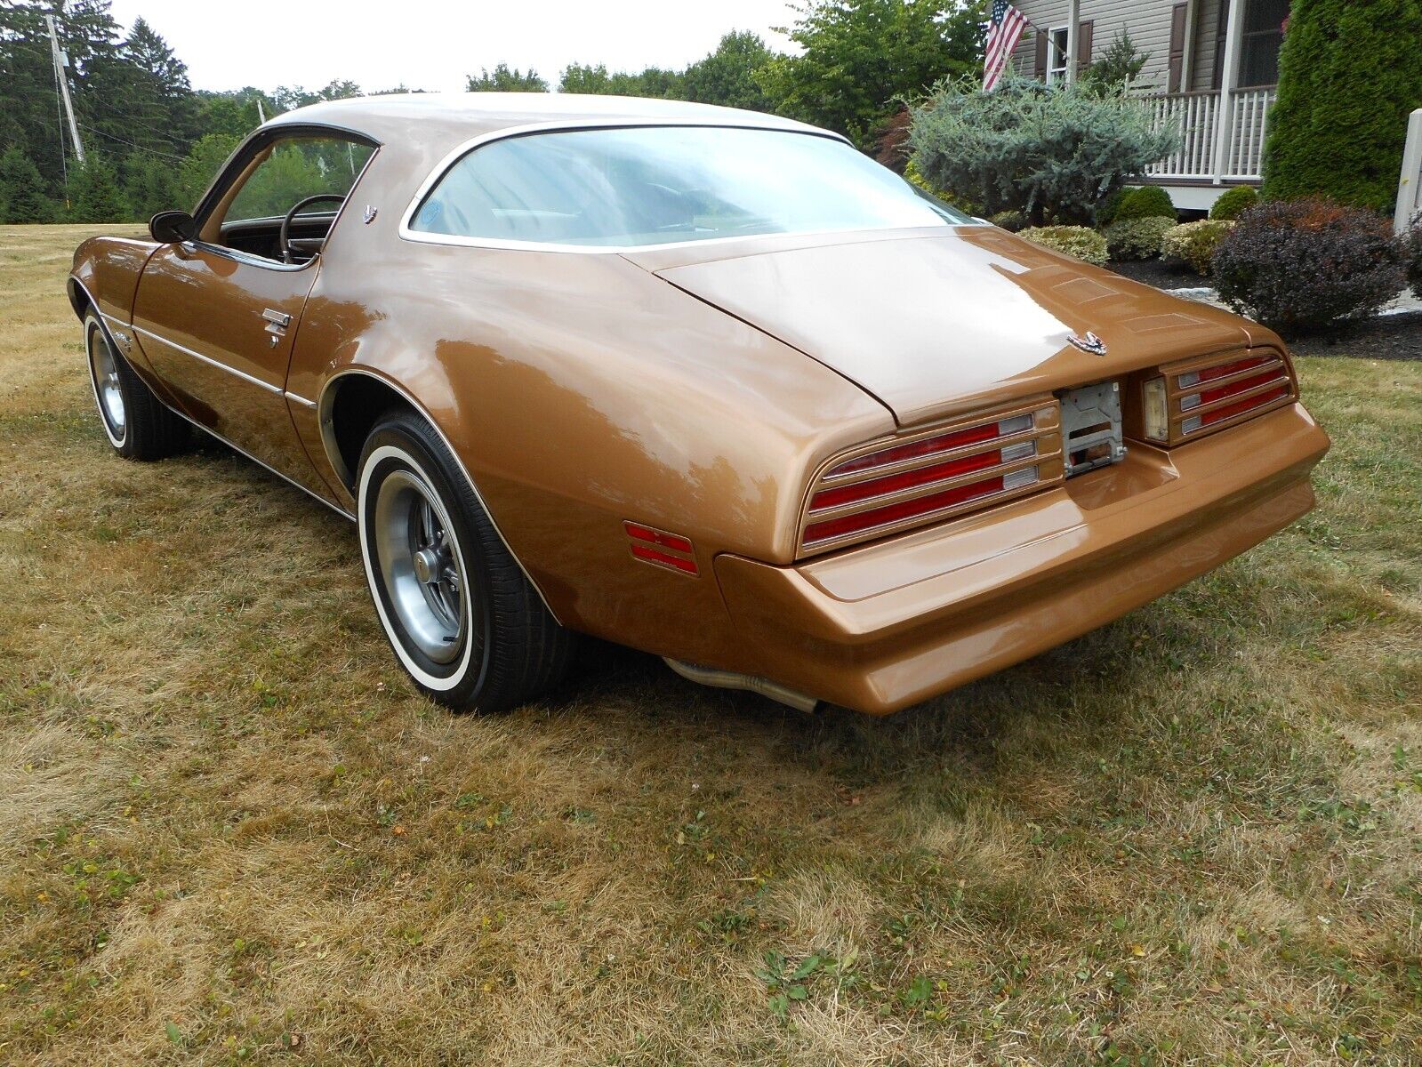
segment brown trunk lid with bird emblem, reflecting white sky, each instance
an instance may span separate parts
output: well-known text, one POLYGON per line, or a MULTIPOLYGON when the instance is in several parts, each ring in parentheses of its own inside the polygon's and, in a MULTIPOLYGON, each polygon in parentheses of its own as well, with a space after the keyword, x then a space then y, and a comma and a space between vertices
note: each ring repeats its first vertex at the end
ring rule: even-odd
POLYGON ((973 408, 1001 388, 1028 396, 1250 341, 1243 319, 990 226, 776 243, 643 265, 857 383, 900 424, 973 408), (1071 343, 1088 333, 1105 353, 1071 343))

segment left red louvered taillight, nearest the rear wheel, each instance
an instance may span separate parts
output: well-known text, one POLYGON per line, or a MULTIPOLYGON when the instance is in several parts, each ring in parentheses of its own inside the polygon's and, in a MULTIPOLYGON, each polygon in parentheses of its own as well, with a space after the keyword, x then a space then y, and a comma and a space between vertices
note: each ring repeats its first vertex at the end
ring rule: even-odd
POLYGON ((862 447, 809 494, 802 552, 820 552, 987 506, 1061 479, 1055 401, 862 447))

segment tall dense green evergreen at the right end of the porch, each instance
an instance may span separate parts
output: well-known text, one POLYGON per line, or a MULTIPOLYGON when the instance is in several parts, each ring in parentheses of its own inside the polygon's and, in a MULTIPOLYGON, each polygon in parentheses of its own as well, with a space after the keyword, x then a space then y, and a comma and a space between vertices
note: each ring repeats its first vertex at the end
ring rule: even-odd
POLYGON ((1293 0, 1268 112, 1264 198, 1389 211, 1422 102, 1422 0, 1293 0))

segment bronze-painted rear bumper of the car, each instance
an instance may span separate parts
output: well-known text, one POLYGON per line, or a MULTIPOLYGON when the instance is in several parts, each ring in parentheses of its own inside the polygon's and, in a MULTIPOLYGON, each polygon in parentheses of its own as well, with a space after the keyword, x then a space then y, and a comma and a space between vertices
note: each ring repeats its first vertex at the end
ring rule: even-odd
POLYGON ((715 561, 749 670, 889 714, 1078 637, 1314 505, 1298 404, 943 526, 799 566, 715 561))

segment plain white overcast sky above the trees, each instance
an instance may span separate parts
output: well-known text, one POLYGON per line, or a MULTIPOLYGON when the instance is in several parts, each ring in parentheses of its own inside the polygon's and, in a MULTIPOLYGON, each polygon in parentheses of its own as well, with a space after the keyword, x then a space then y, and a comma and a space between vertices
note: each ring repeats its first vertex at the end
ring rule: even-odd
POLYGON ((125 30, 146 18, 205 90, 351 78, 461 91, 465 74, 501 61, 556 87, 569 63, 684 67, 728 30, 784 50, 771 27, 793 21, 785 0, 112 0, 112 10, 125 30))

